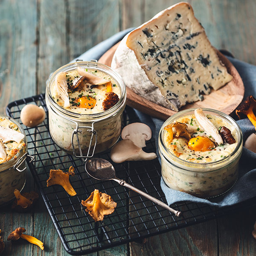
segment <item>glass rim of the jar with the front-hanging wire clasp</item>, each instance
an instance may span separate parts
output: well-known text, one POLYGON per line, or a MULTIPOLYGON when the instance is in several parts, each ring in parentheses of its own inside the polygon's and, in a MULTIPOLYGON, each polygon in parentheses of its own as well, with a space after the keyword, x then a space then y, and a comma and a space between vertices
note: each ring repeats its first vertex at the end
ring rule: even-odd
POLYGON ((108 67, 107 65, 98 63, 98 62, 94 62, 94 61, 77 61, 77 62, 66 64, 66 65, 58 68, 54 73, 52 73, 49 76, 49 78, 47 80, 46 92, 47 92, 46 97, 49 101, 49 105, 51 107, 54 107, 55 110, 58 110, 59 112, 61 112, 65 116, 68 116, 69 118, 79 118, 79 119, 87 119, 87 120, 88 119, 92 119, 92 120, 102 119, 105 116, 108 116, 109 114, 113 115, 114 113, 116 113, 116 111, 119 110, 120 106, 125 102, 125 99, 126 99, 126 87, 125 87, 125 83, 124 83, 122 77, 118 73, 116 73, 116 71, 114 71, 113 69, 108 67), (114 105, 112 108, 110 108, 106 111, 102 111, 99 113, 93 113, 93 114, 74 113, 74 112, 68 111, 65 108, 58 105, 52 98, 50 86, 54 82, 54 79, 58 73, 74 70, 76 67, 95 68, 96 70, 100 70, 102 72, 108 73, 108 75, 113 77, 113 79, 118 82, 119 87, 121 89, 121 96, 120 96, 119 101, 116 103, 116 105, 114 105), (68 69, 68 68, 70 68, 70 69, 68 69))

